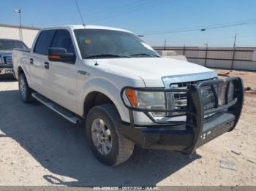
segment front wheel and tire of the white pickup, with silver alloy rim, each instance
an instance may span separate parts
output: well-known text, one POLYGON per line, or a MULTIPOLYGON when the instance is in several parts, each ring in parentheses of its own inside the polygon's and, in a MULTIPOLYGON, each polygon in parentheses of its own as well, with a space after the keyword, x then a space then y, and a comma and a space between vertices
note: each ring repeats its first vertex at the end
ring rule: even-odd
POLYGON ((121 119, 113 104, 94 106, 86 117, 86 136, 94 155, 106 165, 131 157, 134 144, 119 132, 121 119))

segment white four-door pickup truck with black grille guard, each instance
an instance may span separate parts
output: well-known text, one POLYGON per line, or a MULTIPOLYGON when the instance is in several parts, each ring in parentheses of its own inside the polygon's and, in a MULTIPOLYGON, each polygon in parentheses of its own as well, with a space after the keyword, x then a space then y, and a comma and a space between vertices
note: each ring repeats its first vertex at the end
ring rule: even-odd
POLYGON ((240 78, 161 58, 130 31, 45 28, 31 50, 12 56, 21 99, 85 120, 91 149, 107 165, 127 160, 134 144, 189 155, 233 130, 241 114, 240 78))

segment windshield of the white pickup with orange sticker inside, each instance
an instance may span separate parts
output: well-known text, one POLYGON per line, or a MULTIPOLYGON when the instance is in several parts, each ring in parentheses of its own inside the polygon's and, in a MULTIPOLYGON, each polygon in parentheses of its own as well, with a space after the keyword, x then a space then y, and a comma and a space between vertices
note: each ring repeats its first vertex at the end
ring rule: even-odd
POLYGON ((159 57, 135 34, 102 29, 77 29, 74 32, 83 59, 159 57))

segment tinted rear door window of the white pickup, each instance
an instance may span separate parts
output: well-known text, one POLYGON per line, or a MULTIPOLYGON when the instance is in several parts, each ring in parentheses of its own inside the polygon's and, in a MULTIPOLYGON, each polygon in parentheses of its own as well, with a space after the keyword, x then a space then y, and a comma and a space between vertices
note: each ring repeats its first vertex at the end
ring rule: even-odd
POLYGON ((40 55, 48 55, 48 48, 50 47, 55 33, 56 30, 42 31, 34 46, 34 52, 40 55))

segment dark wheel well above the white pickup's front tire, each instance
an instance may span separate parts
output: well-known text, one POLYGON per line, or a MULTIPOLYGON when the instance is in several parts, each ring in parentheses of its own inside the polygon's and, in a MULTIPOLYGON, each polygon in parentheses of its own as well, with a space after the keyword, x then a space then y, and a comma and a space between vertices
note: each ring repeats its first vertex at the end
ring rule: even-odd
POLYGON ((99 106, 102 104, 113 104, 113 101, 108 98, 107 95, 100 92, 91 92, 86 96, 86 100, 83 104, 83 116, 86 117, 89 110, 94 106, 99 106))

